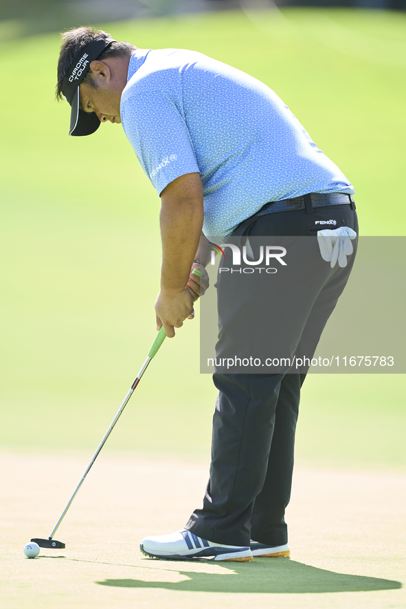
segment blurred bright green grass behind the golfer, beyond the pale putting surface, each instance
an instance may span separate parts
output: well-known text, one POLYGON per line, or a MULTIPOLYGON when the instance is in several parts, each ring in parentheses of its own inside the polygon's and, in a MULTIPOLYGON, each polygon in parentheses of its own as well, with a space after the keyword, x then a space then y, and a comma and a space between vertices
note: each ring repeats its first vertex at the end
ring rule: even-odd
MULTIPOLYGON (((405 14, 290 8, 98 25, 268 84, 354 183, 361 234, 405 234, 405 14)), ((10 27, 0 24, 0 448, 90 454, 155 337, 159 197, 120 126, 67 136, 58 34, 10 27)), ((403 467, 404 391, 403 375, 309 376, 297 460, 403 467)), ((208 459, 215 395, 199 374, 197 314, 165 341, 104 450, 208 459)))

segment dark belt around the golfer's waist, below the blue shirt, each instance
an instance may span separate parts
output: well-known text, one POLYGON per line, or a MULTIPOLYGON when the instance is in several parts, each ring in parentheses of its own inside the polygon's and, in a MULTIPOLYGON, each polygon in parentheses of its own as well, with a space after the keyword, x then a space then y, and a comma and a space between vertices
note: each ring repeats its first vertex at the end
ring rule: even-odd
POLYGON ((351 209, 355 209, 352 194, 343 194, 343 192, 311 192, 291 199, 265 203, 251 218, 276 214, 279 211, 295 211, 297 209, 306 209, 308 214, 313 214, 313 207, 327 207, 328 205, 351 205, 351 209))

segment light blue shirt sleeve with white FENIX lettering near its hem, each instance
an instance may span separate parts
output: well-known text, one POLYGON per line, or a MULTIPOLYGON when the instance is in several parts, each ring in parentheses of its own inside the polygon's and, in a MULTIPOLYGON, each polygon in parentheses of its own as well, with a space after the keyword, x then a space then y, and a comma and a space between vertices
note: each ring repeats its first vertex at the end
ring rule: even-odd
POLYGON ((200 172, 181 109, 165 91, 135 93, 122 100, 122 126, 158 194, 174 179, 200 172))

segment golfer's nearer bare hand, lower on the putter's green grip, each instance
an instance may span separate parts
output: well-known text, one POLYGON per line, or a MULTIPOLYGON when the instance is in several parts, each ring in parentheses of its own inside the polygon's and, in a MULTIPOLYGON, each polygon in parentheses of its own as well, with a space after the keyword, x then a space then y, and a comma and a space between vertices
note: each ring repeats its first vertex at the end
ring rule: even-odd
POLYGON ((190 288, 185 288, 182 292, 159 292, 155 303, 157 330, 163 325, 168 338, 174 337, 174 328, 181 328, 185 319, 194 318, 191 292, 190 288))

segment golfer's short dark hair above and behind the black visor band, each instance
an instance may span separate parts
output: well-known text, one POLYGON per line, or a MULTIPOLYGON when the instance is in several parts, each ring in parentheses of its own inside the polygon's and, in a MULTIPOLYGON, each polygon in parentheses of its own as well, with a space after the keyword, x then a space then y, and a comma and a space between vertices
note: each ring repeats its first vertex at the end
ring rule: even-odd
MULTIPOLYGON (((75 30, 69 30, 61 35, 63 43, 60 46, 60 53, 58 59, 58 82, 56 84, 56 99, 60 100, 63 97, 62 94, 62 82, 65 74, 73 64, 74 60, 84 47, 89 45, 94 40, 102 38, 102 40, 109 40, 110 34, 103 32, 103 30, 95 30, 94 27, 76 27, 75 30)), ((137 47, 130 43, 112 43, 102 54, 98 57, 100 61, 108 57, 123 57, 133 54, 137 47)), ((95 82, 91 76, 91 73, 87 73, 84 76, 82 82, 87 82, 91 87, 95 87, 95 82)))

